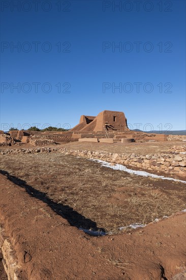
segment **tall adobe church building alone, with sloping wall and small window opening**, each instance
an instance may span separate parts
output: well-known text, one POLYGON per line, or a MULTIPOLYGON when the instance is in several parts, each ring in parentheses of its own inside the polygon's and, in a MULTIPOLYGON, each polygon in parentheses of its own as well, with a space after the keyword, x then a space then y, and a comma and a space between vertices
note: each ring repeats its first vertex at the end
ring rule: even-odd
POLYGON ((104 132, 105 130, 120 132, 129 130, 125 114, 104 110, 97 117, 82 115, 79 124, 70 131, 104 132))

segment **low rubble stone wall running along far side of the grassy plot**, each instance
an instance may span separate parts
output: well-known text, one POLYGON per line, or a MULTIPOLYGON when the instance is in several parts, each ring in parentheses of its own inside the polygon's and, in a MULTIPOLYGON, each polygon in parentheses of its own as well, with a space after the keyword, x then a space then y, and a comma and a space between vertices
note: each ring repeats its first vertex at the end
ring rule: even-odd
POLYGON ((39 149, 15 149, 4 150, 1 154, 15 153, 42 153, 42 152, 60 152, 74 156, 82 156, 85 158, 101 159, 112 163, 128 165, 131 169, 146 170, 153 173, 172 174, 181 177, 186 176, 186 155, 181 153, 162 153, 162 154, 117 154, 105 151, 82 151, 82 150, 67 150, 66 148, 39 148, 39 149))

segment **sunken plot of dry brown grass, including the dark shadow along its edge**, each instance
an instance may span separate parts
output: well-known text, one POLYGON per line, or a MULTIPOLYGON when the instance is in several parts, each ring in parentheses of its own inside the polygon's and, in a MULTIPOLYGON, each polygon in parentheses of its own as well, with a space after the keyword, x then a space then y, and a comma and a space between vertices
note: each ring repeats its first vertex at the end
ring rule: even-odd
POLYGON ((118 233, 185 209, 185 184, 131 175, 61 153, 2 157, 3 174, 43 195, 71 225, 118 233))

